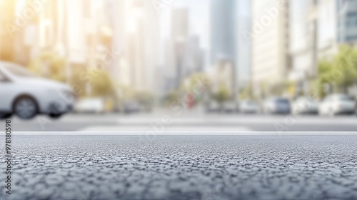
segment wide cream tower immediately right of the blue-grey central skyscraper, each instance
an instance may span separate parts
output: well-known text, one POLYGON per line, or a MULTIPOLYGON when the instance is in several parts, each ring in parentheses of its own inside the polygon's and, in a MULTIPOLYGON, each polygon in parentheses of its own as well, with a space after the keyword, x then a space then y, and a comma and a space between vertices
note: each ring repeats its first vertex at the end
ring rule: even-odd
POLYGON ((252 76, 253 84, 279 85, 288 75, 288 1, 253 0, 252 76))

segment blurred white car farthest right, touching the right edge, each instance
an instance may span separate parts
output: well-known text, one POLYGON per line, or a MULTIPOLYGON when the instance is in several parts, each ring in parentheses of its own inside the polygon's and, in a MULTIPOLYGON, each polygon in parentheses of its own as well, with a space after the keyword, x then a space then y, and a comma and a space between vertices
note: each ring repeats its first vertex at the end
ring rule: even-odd
POLYGON ((355 114, 356 103, 346 94, 332 94, 321 102, 319 112, 321 115, 329 116, 355 114))

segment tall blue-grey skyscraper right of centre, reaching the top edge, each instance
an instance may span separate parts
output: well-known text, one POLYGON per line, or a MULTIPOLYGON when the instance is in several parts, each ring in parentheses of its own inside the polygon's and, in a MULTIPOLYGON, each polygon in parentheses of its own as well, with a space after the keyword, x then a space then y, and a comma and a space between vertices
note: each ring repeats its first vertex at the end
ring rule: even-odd
POLYGON ((220 59, 236 64, 236 1, 211 0, 210 65, 220 59))

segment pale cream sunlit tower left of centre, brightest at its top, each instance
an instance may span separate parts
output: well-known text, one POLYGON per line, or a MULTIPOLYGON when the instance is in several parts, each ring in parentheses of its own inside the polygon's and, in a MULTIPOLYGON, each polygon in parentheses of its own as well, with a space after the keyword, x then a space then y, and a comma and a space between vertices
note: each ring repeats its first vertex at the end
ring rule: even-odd
MULTIPOLYGON (((159 16, 149 0, 128 1, 126 6, 125 48, 131 86, 153 90, 159 66, 159 16)), ((120 27, 118 27, 120 28, 120 27)))

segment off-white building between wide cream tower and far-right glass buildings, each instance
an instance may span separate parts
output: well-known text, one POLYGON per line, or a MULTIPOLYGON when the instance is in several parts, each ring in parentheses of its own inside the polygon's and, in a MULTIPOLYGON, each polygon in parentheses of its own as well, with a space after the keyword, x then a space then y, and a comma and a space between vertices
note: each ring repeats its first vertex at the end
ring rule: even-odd
POLYGON ((291 71, 290 81, 296 82, 296 94, 308 92, 308 81, 316 76, 316 1, 291 1, 289 5, 291 71))

